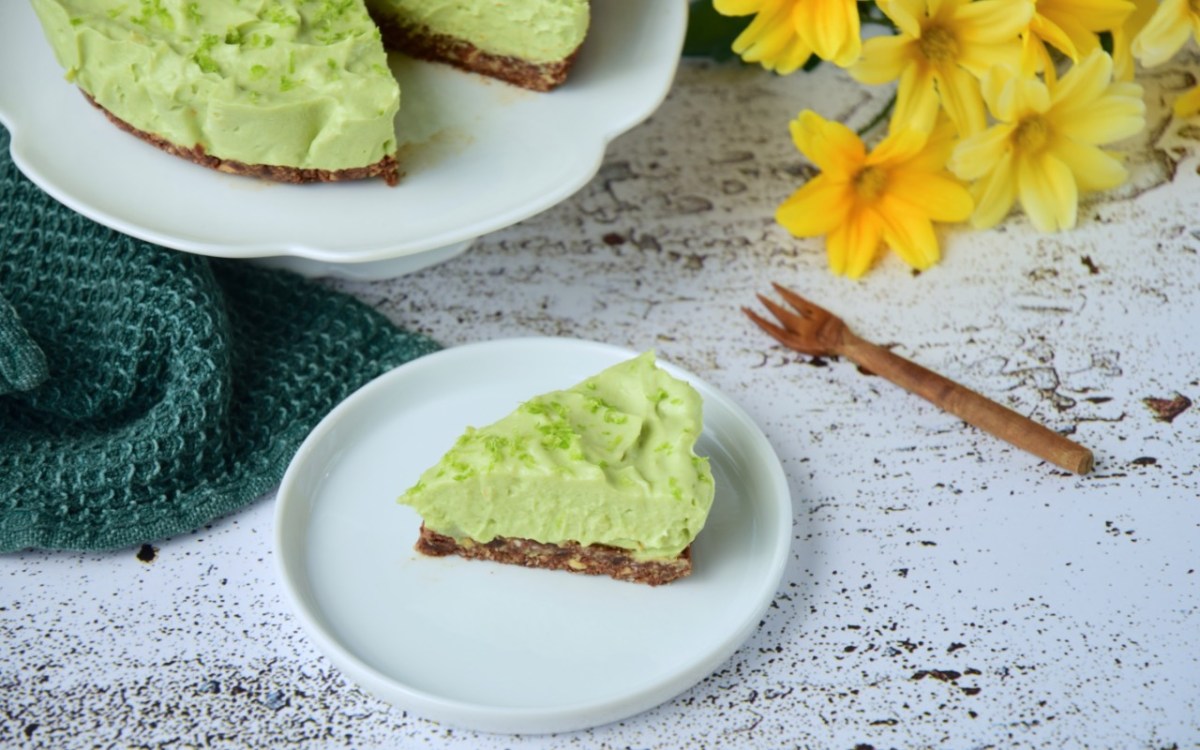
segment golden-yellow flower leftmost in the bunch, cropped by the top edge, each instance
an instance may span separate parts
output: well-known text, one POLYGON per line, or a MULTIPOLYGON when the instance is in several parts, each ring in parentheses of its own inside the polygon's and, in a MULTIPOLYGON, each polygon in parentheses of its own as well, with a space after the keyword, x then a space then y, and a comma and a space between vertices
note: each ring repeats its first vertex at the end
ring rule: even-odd
POLYGON ((713 7, 722 16, 755 14, 733 52, 776 73, 794 72, 814 53, 847 66, 863 49, 854 0, 713 0, 713 7))

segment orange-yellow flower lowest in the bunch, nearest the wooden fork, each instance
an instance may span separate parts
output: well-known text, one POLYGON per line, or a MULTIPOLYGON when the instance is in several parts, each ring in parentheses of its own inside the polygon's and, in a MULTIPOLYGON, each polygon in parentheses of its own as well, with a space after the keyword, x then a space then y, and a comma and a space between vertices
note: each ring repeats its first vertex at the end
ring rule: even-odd
POLYGON ((808 109, 791 131, 821 174, 785 200, 775 218, 796 236, 827 235, 835 274, 858 278, 882 245, 926 269, 941 257, 932 222, 971 215, 971 196, 946 172, 949 127, 892 132, 870 152, 848 127, 808 109))

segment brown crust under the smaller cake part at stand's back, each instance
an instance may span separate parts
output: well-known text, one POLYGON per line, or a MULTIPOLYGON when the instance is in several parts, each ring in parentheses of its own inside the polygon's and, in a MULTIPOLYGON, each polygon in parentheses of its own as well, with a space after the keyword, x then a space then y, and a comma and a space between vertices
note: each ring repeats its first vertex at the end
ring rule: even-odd
POLYGON ((576 48, 569 56, 556 62, 529 62, 520 58, 493 55, 469 42, 433 34, 427 26, 398 24, 390 18, 376 18, 376 23, 389 49, 398 49, 419 60, 448 62, 533 91, 550 91, 565 82, 580 53, 576 48))

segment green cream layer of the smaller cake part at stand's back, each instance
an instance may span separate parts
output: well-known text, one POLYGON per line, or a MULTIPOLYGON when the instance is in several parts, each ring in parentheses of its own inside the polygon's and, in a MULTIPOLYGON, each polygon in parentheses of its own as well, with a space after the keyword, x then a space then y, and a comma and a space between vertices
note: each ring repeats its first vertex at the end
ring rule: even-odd
POLYGON ((382 18, 529 62, 568 58, 588 30, 588 0, 367 0, 367 5, 382 18))

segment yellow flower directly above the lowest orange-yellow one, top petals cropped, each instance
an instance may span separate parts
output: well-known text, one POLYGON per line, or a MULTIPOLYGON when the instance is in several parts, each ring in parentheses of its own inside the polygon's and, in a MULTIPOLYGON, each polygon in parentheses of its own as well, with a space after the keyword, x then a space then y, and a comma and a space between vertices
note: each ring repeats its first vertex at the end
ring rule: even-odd
POLYGON ((1032 4, 890 0, 880 8, 900 32, 868 40, 850 74, 868 84, 900 79, 893 121, 931 127, 941 101, 959 133, 982 131, 988 118, 979 78, 997 65, 1016 65, 1032 4))

